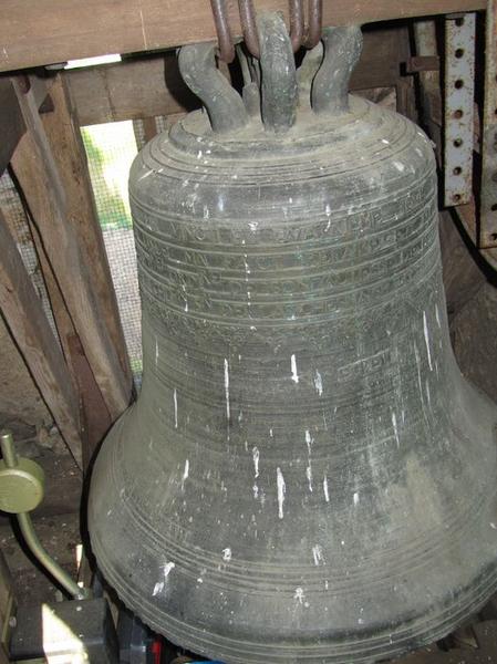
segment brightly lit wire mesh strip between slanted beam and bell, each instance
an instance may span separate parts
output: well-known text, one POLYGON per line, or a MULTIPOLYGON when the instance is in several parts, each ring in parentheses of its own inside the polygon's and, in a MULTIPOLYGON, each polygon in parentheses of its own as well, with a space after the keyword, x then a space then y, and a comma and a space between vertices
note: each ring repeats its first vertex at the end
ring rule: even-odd
POLYGON ((133 123, 83 127, 90 177, 135 383, 142 381, 141 304, 127 178, 137 147, 133 123))

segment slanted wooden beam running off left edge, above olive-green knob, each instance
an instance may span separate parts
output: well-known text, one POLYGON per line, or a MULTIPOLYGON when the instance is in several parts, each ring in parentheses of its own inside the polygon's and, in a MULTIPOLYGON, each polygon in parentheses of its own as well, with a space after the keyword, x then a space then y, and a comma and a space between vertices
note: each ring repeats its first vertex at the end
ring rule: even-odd
POLYGON ((43 400, 82 465, 79 403, 62 352, 0 211, 0 309, 43 400))

